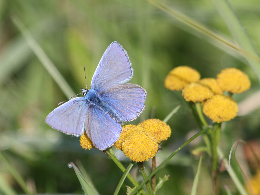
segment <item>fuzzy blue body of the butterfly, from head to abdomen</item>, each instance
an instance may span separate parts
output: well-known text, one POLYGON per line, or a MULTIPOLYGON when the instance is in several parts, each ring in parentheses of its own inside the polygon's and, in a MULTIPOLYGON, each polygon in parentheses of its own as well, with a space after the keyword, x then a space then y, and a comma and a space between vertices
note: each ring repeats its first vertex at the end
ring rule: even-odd
POLYGON ((89 102, 89 108, 95 107, 99 110, 102 110, 107 113, 114 121, 121 125, 123 124, 123 121, 120 119, 118 114, 116 114, 113 108, 109 106, 106 101, 104 101, 104 92, 97 93, 94 89, 81 89, 81 91, 86 100, 89 102))

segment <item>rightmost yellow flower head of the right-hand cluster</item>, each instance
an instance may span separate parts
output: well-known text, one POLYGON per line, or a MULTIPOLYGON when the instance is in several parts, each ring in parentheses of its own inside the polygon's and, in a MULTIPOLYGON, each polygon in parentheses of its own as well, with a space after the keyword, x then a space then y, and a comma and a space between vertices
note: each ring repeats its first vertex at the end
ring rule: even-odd
POLYGON ((242 93, 250 88, 248 76, 239 69, 227 68, 217 75, 217 82, 223 91, 242 93))

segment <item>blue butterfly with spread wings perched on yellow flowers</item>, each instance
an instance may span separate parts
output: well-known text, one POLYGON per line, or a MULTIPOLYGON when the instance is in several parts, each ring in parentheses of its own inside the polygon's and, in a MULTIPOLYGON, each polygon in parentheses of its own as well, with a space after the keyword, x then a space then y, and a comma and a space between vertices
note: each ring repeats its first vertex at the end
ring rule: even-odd
POLYGON ((127 52, 117 42, 103 54, 91 81, 75 97, 54 109, 45 119, 52 128, 68 135, 88 138, 99 150, 112 146, 120 137, 123 122, 136 119, 144 109, 146 91, 126 83, 133 76, 127 52))

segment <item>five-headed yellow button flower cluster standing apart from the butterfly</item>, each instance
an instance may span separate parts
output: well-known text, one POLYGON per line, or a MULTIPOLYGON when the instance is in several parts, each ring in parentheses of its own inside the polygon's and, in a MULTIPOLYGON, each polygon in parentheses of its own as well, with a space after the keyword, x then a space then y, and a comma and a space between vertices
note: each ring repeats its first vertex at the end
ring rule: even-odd
POLYGON ((238 112, 237 103, 231 97, 223 95, 223 91, 227 91, 230 94, 246 91, 251 85, 248 76, 236 68, 222 70, 217 75, 217 79, 200 79, 198 74, 192 68, 176 67, 166 77, 165 87, 172 91, 182 90, 182 96, 188 102, 201 102, 203 113, 213 122, 220 123, 233 119, 238 112), (181 69, 181 71, 174 71, 176 69, 181 69), (172 72, 174 72, 174 77, 182 78, 186 81, 186 84, 180 83, 177 79, 172 79, 172 72), (180 75, 178 75, 179 72, 181 72, 180 75), (187 78, 184 78, 185 75, 192 79, 197 78, 197 80, 187 80, 187 78), (175 85, 177 87, 173 87, 175 85))

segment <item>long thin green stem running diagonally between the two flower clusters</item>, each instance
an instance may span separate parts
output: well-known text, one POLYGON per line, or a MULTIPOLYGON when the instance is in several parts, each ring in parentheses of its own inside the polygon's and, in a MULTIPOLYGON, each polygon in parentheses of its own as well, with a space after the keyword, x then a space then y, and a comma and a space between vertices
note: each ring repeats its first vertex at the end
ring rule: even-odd
POLYGON ((175 150, 165 161, 163 161, 149 176, 147 176, 147 178, 138 186, 136 187, 129 195, 133 195, 136 192, 138 192, 138 190, 141 189, 141 187, 149 180, 151 179, 151 177, 161 169, 161 167, 163 165, 165 165, 175 154, 177 154, 177 152, 179 152, 182 148, 184 148, 185 146, 187 146, 187 144, 189 144, 192 140, 194 140, 196 137, 198 137, 199 135, 205 133, 207 130, 209 130, 209 128, 204 128, 203 130, 201 130, 200 132, 198 132, 197 134, 195 134, 194 136, 192 136, 189 140, 187 140, 184 144, 182 144, 177 150, 175 150))

